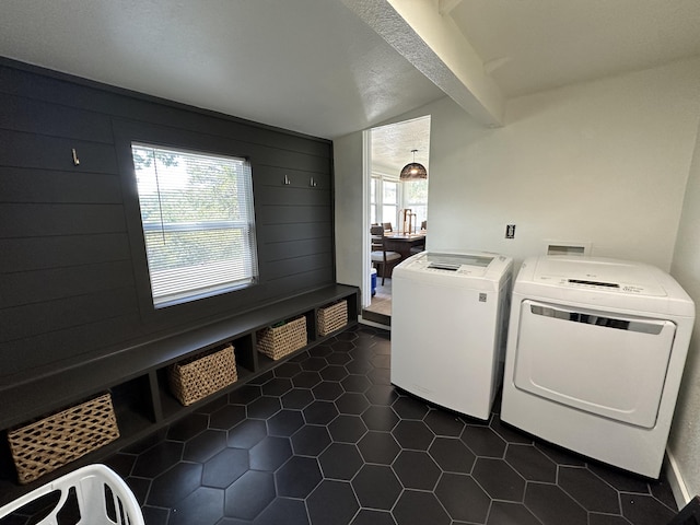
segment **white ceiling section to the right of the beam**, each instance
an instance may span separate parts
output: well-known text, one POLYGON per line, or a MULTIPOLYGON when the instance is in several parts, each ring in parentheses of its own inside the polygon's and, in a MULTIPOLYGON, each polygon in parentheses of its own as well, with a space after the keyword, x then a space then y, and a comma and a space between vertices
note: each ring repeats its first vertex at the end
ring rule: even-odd
POLYGON ((465 0, 450 14, 506 97, 700 55, 698 0, 465 0))

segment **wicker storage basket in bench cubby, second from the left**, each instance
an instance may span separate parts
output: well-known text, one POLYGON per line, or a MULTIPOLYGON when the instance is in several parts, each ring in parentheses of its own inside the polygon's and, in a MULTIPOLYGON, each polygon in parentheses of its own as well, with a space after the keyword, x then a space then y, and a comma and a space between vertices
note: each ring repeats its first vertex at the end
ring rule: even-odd
POLYGON ((167 380, 179 402, 191 405, 238 378, 233 346, 185 359, 167 368, 167 380))

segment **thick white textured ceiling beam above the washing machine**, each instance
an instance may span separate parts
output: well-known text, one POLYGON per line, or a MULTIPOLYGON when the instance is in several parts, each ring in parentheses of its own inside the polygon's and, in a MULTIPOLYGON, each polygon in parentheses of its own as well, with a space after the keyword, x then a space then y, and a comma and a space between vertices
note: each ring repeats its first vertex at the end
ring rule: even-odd
POLYGON ((489 127, 503 125, 501 90, 436 1, 342 2, 469 115, 489 127))

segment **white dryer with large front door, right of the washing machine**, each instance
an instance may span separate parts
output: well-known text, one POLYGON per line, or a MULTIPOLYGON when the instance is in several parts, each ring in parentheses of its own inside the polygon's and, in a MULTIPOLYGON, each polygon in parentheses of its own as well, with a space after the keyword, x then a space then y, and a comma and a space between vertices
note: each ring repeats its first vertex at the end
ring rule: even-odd
POLYGON ((513 285, 501 419, 657 478, 695 322, 666 272, 542 256, 513 285))

